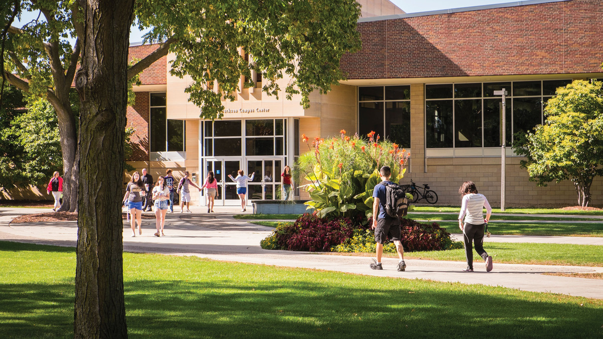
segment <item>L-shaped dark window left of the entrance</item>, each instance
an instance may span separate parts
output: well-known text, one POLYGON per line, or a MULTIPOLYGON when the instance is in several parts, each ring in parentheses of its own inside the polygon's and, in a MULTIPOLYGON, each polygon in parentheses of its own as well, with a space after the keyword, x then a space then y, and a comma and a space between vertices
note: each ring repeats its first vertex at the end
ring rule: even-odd
POLYGON ((185 151, 185 121, 167 119, 165 93, 151 93, 151 152, 185 151))

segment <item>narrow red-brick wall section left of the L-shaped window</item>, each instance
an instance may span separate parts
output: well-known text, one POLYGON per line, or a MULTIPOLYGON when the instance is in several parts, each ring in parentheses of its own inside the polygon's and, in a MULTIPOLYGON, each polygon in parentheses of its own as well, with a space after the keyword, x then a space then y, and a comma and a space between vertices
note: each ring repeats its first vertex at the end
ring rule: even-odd
POLYGON ((134 151, 128 161, 149 161, 149 106, 149 92, 136 92, 136 103, 128 106, 126 127, 136 130, 130 137, 134 151))

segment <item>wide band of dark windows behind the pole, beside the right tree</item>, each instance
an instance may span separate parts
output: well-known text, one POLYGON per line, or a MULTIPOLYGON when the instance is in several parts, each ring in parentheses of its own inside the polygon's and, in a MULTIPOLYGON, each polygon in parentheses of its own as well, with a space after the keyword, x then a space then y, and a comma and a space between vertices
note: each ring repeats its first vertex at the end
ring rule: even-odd
POLYGON ((542 124, 543 107, 557 87, 571 80, 507 81, 425 85, 427 148, 500 146, 502 98, 494 90, 506 89, 507 145, 515 133, 542 124))

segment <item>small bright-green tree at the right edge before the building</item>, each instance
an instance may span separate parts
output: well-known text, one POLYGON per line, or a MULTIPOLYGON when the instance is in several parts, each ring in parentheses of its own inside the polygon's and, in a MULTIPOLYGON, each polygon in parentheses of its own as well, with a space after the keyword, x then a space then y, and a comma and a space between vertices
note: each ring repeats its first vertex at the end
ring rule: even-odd
POLYGON ((602 85, 575 80, 558 88, 546 103, 545 124, 513 146, 538 185, 572 180, 580 206, 588 206, 593 179, 603 175, 602 85))

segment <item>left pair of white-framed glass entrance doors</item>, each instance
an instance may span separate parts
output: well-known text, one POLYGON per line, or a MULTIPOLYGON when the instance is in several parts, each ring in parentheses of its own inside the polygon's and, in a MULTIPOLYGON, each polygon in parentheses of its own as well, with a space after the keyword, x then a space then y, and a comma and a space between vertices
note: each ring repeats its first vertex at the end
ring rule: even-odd
POLYGON ((228 175, 236 177, 237 171, 240 169, 241 160, 206 160, 205 176, 207 177, 207 172, 213 171, 216 180, 218 180, 218 197, 216 197, 214 204, 218 206, 236 206, 239 204, 239 196, 236 194, 236 182, 230 180, 228 175))

